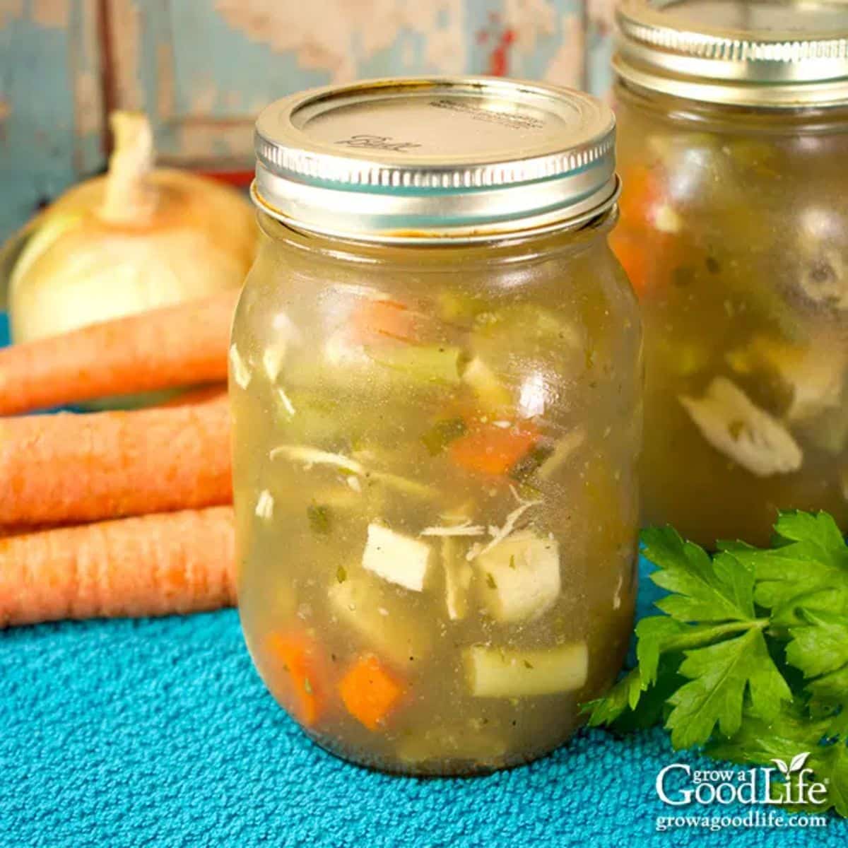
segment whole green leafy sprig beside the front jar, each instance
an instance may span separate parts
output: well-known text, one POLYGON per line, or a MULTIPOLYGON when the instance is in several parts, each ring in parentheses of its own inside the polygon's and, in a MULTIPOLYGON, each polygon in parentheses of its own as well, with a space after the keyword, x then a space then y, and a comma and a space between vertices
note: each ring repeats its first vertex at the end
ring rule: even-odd
POLYGON ((637 665, 587 709, 619 730, 664 722, 675 748, 771 765, 810 751, 848 816, 848 546, 827 513, 784 512, 773 544, 717 554, 671 527, 642 534, 663 615, 636 627, 637 665))

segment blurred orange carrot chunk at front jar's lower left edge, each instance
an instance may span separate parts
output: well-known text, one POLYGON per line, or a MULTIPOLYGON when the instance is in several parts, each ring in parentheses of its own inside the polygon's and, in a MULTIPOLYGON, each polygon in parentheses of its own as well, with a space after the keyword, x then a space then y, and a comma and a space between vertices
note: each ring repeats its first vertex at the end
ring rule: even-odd
POLYGON ((318 644, 307 633, 271 633, 268 651, 287 675, 283 706, 311 728, 326 711, 329 672, 318 644))

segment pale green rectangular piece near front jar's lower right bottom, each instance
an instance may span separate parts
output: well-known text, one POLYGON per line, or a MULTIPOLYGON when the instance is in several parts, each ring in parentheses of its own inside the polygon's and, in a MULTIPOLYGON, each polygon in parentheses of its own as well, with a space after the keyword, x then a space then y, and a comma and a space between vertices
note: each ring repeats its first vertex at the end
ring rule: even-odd
POLYGON ((589 675, 585 642, 545 650, 501 650, 484 645, 466 648, 463 656, 471 695, 521 698, 580 689, 589 675))

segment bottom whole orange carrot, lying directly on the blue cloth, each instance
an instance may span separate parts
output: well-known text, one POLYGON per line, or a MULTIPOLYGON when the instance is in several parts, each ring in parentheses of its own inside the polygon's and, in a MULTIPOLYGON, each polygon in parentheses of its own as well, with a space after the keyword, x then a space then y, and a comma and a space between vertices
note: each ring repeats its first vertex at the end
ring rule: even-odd
POLYGON ((236 602, 232 507, 0 539, 0 628, 236 602))

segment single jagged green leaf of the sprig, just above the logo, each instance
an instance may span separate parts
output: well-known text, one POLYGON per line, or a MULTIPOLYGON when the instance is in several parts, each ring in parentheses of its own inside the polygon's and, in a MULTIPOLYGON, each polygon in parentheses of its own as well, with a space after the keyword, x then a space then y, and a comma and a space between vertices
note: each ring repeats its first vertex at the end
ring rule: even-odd
POLYGON ((781 701, 792 699, 759 628, 687 651, 680 673, 689 683, 669 698, 674 708, 666 722, 675 748, 705 744, 716 725, 726 736, 737 733, 746 691, 752 711, 764 717, 774 716, 781 701))

